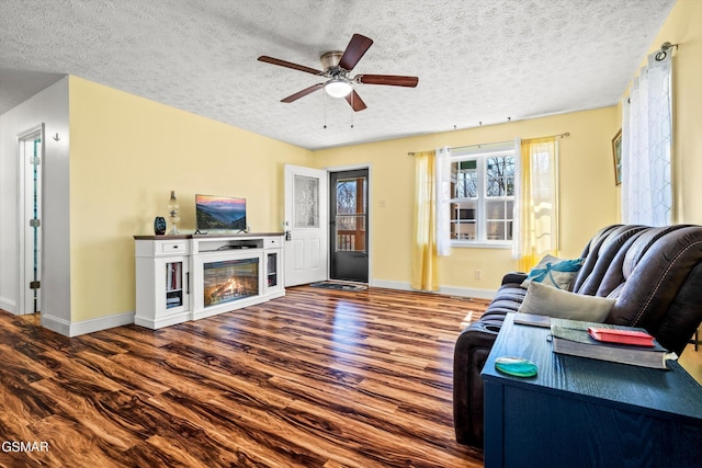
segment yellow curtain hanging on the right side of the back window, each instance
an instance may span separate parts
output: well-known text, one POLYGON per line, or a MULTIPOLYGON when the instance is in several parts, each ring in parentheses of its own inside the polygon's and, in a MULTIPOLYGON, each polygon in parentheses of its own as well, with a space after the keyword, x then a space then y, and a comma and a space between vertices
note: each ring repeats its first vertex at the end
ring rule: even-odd
POLYGON ((529 272, 558 247, 557 155, 554 137, 522 140, 520 161, 519 270, 529 272))

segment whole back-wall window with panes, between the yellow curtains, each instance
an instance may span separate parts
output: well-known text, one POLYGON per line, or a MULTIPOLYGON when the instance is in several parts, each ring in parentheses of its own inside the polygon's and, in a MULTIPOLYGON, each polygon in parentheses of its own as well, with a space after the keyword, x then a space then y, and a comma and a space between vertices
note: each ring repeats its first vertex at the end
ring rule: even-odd
POLYGON ((513 144, 453 151, 452 244, 511 246, 516 161, 513 144))

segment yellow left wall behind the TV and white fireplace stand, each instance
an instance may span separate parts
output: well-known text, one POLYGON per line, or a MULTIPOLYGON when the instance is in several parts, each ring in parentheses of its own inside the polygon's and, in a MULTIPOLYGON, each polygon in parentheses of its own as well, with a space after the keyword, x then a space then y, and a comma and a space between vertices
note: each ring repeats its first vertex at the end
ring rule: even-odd
POLYGON ((280 231, 292 145, 116 91, 69 80, 71 321, 133 311, 134 235, 152 235, 170 191, 194 229, 195 193, 247 198, 254 231, 280 231))

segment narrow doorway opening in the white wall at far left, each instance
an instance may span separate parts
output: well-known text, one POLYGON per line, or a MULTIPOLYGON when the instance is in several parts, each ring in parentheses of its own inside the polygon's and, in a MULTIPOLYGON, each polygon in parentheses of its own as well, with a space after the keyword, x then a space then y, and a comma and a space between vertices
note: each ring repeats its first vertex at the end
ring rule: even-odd
POLYGON ((42 308, 42 162, 44 125, 18 135, 20 190, 20 295, 18 315, 42 308))

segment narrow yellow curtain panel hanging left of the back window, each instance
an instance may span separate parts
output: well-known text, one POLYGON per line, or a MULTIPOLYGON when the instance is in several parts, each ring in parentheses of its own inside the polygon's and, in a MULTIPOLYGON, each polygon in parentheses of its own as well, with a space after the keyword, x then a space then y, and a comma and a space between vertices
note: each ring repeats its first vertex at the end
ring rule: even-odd
POLYGON ((435 151, 415 153, 415 231, 411 287, 439 290, 437 255, 435 151))

